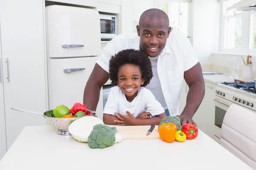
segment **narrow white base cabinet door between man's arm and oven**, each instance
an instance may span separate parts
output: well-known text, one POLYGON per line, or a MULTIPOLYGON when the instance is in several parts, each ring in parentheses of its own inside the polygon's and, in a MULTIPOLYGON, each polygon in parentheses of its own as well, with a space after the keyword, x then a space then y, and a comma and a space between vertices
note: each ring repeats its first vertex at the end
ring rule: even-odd
POLYGON ((206 82, 206 112, 205 112, 205 133, 214 139, 215 122, 215 84, 206 82))

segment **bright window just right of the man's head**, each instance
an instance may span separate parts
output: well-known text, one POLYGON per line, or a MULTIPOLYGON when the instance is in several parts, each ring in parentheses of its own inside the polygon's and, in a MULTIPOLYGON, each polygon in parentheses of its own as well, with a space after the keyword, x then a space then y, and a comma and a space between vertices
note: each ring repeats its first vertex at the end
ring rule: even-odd
POLYGON ((188 3, 163 3, 162 10, 169 17, 170 26, 173 30, 188 34, 188 3))

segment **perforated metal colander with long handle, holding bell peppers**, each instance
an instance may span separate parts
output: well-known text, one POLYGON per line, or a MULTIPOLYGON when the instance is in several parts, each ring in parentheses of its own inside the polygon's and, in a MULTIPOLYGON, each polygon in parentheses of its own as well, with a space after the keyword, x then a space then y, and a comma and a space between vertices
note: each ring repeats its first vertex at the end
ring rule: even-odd
MULTIPOLYGON (((22 112, 27 112, 27 113, 33 113, 33 114, 38 114, 38 115, 42 115, 46 121, 48 125, 51 125, 52 127, 54 127, 57 131, 56 133, 58 135, 71 135, 68 131, 68 127, 69 125, 74 122, 76 119, 79 119, 81 117, 73 117, 73 118, 57 118, 57 117, 49 117, 47 115, 52 113, 52 110, 46 111, 44 113, 38 113, 38 112, 34 112, 34 111, 26 111, 23 109, 19 109, 19 108, 11 108, 12 110, 15 111, 22 111, 22 112)), ((86 116, 90 116, 92 111, 86 109, 90 114, 86 115, 86 116)), ((83 116, 84 117, 84 116, 83 116)))

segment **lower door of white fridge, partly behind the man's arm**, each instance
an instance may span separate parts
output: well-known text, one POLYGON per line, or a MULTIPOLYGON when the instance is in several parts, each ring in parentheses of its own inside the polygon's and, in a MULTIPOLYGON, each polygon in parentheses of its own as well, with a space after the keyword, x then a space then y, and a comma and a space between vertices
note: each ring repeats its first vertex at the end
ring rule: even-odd
MULTIPOLYGON (((83 103, 84 87, 98 57, 50 59, 51 108, 66 105, 71 108, 76 102, 83 103)), ((103 98, 100 93, 96 113, 103 117, 103 98)))

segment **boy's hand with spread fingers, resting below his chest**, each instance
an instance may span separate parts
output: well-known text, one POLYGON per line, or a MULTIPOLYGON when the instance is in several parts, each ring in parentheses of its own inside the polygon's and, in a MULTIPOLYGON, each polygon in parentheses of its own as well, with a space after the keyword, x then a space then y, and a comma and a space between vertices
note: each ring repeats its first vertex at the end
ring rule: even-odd
POLYGON ((120 113, 117 113, 115 116, 118 120, 114 120, 118 125, 122 126, 130 126, 130 125, 136 125, 137 119, 128 111, 126 111, 128 116, 122 115, 120 113))

